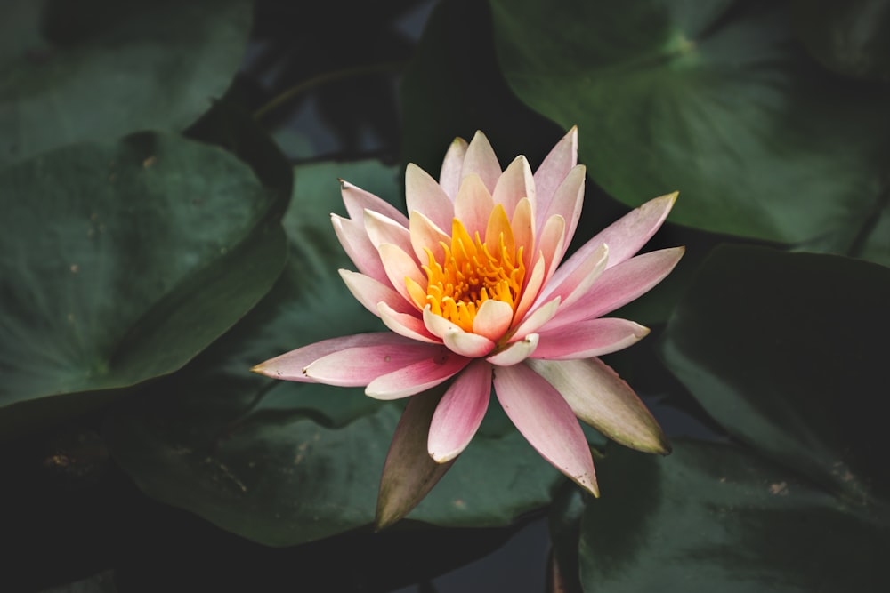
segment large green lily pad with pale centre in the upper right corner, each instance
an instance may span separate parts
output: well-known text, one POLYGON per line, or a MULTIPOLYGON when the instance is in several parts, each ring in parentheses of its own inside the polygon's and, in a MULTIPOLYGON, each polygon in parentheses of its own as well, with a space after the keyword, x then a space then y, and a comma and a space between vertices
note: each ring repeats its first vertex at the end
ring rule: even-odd
POLYGON ((855 236, 886 209, 890 93, 817 68, 784 4, 490 4, 508 84, 578 124, 619 201, 676 189, 672 221, 783 243, 855 236))

